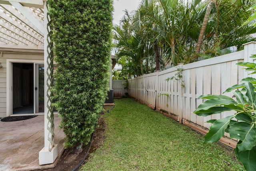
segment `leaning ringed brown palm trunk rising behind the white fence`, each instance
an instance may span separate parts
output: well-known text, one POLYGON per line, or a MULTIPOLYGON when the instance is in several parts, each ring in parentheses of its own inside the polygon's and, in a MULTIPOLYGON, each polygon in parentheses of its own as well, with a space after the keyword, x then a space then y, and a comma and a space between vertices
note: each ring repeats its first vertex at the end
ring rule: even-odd
POLYGON ((196 45, 196 52, 195 52, 195 56, 194 56, 195 60, 198 60, 198 54, 201 51, 202 42, 204 40, 204 33, 205 33, 205 30, 206 30, 206 26, 208 24, 208 20, 209 20, 211 10, 212 10, 212 1, 208 0, 206 12, 205 12, 205 15, 204 15, 204 20, 203 20, 203 23, 202 23, 202 26, 201 26, 201 30, 200 30, 197 45, 196 45))

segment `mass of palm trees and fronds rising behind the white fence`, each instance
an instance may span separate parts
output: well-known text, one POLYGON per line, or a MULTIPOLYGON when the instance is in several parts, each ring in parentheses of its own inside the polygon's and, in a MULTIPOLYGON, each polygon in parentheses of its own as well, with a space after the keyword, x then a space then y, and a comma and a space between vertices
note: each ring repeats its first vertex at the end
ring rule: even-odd
MULTIPOLYGON (((255 0, 142 0, 114 26, 116 55, 140 76, 178 63, 229 52, 255 41, 256 28, 242 24, 255 0), (197 50, 197 51, 196 51, 197 50)), ((130 69, 130 68, 129 68, 130 69)))

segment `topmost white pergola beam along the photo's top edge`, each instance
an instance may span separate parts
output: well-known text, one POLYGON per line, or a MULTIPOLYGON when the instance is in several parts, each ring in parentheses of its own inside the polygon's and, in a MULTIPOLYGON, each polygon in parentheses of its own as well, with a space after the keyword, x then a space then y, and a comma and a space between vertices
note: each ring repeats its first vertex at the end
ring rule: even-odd
POLYGON ((44 8, 43 0, 0 0, 0 4, 10 5, 10 2, 18 2, 22 6, 34 7, 34 8, 44 8))

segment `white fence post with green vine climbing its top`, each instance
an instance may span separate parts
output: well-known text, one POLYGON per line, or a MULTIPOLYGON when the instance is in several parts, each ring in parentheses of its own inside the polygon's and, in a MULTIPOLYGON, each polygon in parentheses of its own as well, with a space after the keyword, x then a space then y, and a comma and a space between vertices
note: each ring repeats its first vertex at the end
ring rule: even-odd
MULTIPOLYGON (((179 63, 178 64, 178 68, 183 68, 183 63, 179 63)), ((178 71, 177 71, 178 72, 178 71)), ((182 80, 181 81, 184 81, 184 71, 182 71, 182 80)), ((190 83, 187 83, 187 84, 190 84, 190 83)), ((186 83, 185 83, 186 85, 186 83)), ((183 119, 183 106, 185 106, 185 98, 183 97, 183 94, 184 94, 184 86, 182 86, 181 82, 178 83, 178 92, 177 92, 177 95, 179 96, 178 99, 179 99, 179 102, 180 104, 178 104, 178 115, 179 115, 179 122, 182 123, 182 119, 183 119)))

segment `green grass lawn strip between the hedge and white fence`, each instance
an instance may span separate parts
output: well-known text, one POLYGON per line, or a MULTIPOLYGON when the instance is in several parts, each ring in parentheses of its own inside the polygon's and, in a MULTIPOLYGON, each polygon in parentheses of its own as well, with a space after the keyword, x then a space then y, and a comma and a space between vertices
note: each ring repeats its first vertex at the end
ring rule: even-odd
POLYGON ((115 99, 104 115, 103 145, 82 171, 238 171, 233 150, 203 144, 201 135, 133 99, 115 99))

